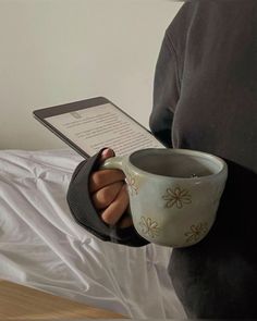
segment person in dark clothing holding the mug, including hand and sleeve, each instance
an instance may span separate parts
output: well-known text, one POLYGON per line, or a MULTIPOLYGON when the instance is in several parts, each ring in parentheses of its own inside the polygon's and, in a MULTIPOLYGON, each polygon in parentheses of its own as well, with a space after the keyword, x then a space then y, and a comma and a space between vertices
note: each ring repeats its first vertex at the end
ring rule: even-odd
MULTIPOLYGON (((188 318, 256 318, 257 1, 185 2, 156 65, 152 134, 169 148, 224 159, 217 220, 198 244, 172 250, 169 274, 188 318)), ((103 240, 145 246, 126 214, 124 174, 98 171, 100 150, 74 172, 74 217, 103 240)))

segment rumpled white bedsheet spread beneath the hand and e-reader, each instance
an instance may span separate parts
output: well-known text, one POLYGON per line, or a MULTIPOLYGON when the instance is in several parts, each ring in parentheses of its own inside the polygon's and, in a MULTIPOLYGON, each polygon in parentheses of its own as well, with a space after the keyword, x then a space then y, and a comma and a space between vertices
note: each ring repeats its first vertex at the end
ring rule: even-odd
POLYGON ((105 243, 72 218, 72 150, 0 151, 0 279, 131 318, 184 318, 167 273, 171 249, 105 243))

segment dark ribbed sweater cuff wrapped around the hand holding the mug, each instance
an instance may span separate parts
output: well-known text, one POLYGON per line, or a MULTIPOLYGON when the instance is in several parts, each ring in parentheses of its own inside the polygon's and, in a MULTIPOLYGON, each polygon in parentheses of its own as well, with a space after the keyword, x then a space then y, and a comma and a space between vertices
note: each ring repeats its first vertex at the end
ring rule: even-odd
POLYGON ((148 242, 137 234, 134 226, 120 229, 106 224, 91 202, 89 176, 98 169, 101 151, 81 162, 73 173, 66 195, 71 213, 79 225, 105 242, 144 246, 148 242))

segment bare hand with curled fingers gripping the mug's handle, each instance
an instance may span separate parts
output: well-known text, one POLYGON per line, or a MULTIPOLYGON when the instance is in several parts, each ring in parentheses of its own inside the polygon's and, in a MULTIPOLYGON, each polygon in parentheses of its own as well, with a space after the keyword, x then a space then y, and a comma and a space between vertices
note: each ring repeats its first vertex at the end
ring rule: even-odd
MULTIPOLYGON (((100 162, 113 156, 113 150, 105 149, 100 162)), ((102 221, 110 225, 118 224, 119 227, 133 225, 131 217, 124 214, 128 207, 124 180, 125 175, 120 170, 100 170, 94 172, 89 181, 93 203, 102 221)))

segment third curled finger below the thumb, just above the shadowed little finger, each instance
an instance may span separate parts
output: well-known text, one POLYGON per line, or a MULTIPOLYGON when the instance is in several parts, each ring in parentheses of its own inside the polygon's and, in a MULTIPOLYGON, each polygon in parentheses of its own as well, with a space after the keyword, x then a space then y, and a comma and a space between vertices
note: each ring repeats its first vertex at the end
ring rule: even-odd
MULTIPOLYGON (((115 225, 128 206, 128 195, 125 184, 120 189, 117 198, 102 211, 101 219, 110 225, 115 225)), ((125 221, 127 223, 127 221, 125 221)))

